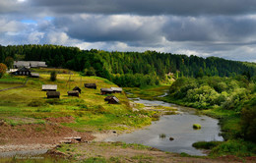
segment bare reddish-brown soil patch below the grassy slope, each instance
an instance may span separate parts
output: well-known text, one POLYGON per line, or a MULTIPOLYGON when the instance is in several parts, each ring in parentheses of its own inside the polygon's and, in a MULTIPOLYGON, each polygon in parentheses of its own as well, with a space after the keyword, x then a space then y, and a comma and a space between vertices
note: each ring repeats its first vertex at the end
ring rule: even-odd
POLYGON ((0 130, 0 152, 22 150, 24 148, 34 149, 36 144, 39 144, 39 148, 43 145, 45 146, 45 144, 56 145, 65 137, 72 136, 81 136, 84 141, 90 141, 95 138, 89 133, 79 133, 53 123, 17 126, 2 124, 0 130))

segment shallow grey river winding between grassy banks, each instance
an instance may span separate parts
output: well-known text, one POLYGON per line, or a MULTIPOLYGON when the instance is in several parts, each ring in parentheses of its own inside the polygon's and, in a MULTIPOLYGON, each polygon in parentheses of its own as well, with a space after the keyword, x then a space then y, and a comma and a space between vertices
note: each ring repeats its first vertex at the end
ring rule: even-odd
POLYGON ((219 121, 208 116, 199 115, 196 109, 157 100, 150 101, 140 98, 132 98, 131 100, 135 103, 143 103, 145 106, 171 106, 176 108, 180 114, 161 116, 159 121, 153 122, 146 129, 131 134, 108 137, 105 141, 140 143, 168 152, 206 155, 202 150, 194 148, 192 144, 196 141, 224 140, 223 136, 220 136, 219 121), (201 124, 202 129, 194 130, 192 128, 193 124, 201 124), (169 140, 169 137, 174 139, 169 140))

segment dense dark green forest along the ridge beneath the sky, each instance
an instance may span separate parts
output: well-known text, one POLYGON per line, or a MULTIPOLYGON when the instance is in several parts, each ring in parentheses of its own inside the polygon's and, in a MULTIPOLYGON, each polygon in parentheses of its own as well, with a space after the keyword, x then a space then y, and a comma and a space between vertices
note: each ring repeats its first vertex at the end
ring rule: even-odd
POLYGON ((45 61, 49 67, 103 77, 120 86, 155 85, 180 77, 235 77, 241 74, 252 77, 256 74, 256 66, 251 63, 156 51, 107 52, 57 45, 0 46, 0 63, 7 62, 6 58, 10 57, 15 61, 45 61))

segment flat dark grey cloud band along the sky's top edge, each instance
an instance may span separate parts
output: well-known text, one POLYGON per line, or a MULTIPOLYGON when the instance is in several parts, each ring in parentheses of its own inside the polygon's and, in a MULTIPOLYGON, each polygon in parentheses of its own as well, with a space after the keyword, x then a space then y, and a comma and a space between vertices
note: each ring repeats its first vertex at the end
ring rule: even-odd
POLYGON ((255 0, 29 0, 53 13, 135 15, 240 15, 256 12, 255 0))

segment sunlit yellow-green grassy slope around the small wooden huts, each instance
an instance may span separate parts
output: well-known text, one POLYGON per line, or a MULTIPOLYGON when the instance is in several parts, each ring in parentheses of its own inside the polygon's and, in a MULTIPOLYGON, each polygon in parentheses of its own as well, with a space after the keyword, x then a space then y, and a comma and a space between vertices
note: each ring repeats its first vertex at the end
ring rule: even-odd
MULTIPOLYGON (((49 70, 45 70, 49 71, 49 70)), ((101 87, 117 86, 98 77, 82 77, 78 73, 58 74, 57 81, 50 81, 50 75, 44 71, 39 79, 30 79, 25 87, 0 92, 0 119, 10 124, 26 124, 28 119, 41 123, 48 117, 75 118, 74 123, 63 123, 77 131, 128 130, 151 124, 154 113, 132 112, 125 93, 114 94, 120 104, 107 104, 106 95, 100 95, 101 87), (68 82, 69 81, 69 82, 68 82), (97 88, 85 88, 85 82, 96 82, 97 88), (60 99, 47 99, 46 92, 41 91, 41 84, 57 84, 60 99), (68 90, 79 86, 82 88, 80 97, 67 95, 68 90)), ((68 72, 68 70, 67 70, 68 72)), ((0 87, 12 87, 1 81, 25 81, 24 77, 6 76, 0 79, 0 87)), ((32 121, 29 121, 32 123, 32 121)))

